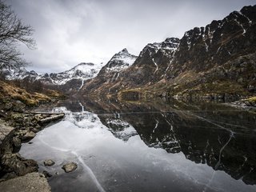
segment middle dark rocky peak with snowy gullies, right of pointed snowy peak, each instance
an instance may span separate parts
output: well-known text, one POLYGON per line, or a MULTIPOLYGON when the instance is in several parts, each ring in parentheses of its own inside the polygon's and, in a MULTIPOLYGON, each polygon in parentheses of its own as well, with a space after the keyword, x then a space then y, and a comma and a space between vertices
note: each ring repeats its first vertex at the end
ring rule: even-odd
POLYGON ((130 86, 142 86, 158 82, 166 76, 174 54, 178 50, 178 38, 166 38, 160 43, 149 43, 129 69, 123 72, 124 81, 130 86))

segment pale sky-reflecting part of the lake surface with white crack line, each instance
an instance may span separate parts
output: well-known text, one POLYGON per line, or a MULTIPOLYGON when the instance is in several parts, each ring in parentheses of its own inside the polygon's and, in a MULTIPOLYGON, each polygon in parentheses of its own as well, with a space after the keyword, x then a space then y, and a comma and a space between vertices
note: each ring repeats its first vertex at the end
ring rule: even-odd
POLYGON ((106 191, 255 190, 223 171, 187 160, 182 153, 168 154, 166 150, 150 148, 138 135, 123 142, 95 118, 94 126, 90 123, 90 127, 88 121, 81 121, 82 128, 66 118, 39 132, 32 144, 22 146, 20 153, 37 160, 41 170, 58 172, 50 178, 56 191, 62 191, 63 187, 95 190, 98 185, 106 191), (56 162, 54 166, 42 166, 48 158, 56 162), (64 174, 61 167, 70 161, 78 163, 78 170, 64 174))

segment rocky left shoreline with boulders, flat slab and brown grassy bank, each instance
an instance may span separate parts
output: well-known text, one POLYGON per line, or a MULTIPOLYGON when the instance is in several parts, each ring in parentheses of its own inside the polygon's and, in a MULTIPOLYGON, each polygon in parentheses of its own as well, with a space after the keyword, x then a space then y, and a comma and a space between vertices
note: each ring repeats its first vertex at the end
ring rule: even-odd
POLYGON ((45 175, 37 173, 37 162, 22 158, 18 151, 22 142, 30 142, 49 122, 65 114, 26 112, 30 109, 18 100, 6 102, 0 109, 1 191, 50 191, 45 175))

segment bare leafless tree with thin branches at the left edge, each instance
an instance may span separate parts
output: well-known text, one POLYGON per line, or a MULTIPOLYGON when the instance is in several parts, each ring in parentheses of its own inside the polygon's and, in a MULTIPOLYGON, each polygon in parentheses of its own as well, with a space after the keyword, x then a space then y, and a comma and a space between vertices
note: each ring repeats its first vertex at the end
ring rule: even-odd
POLYGON ((31 38, 33 32, 31 26, 22 23, 11 7, 0 0, 0 68, 27 65, 17 46, 22 43, 34 49, 35 41, 31 38))

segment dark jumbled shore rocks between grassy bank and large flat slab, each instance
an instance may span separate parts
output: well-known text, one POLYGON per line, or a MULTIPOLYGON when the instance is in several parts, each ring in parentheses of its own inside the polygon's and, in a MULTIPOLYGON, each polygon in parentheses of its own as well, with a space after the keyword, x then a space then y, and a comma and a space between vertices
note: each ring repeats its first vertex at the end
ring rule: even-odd
POLYGON ((38 170, 37 162, 22 158, 18 150, 22 142, 29 142, 36 133, 55 117, 64 114, 32 114, 11 112, 0 119, 0 170, 1 180, 15 178, 38 170), (44 121, 48 119, 47 121, 44 121))

